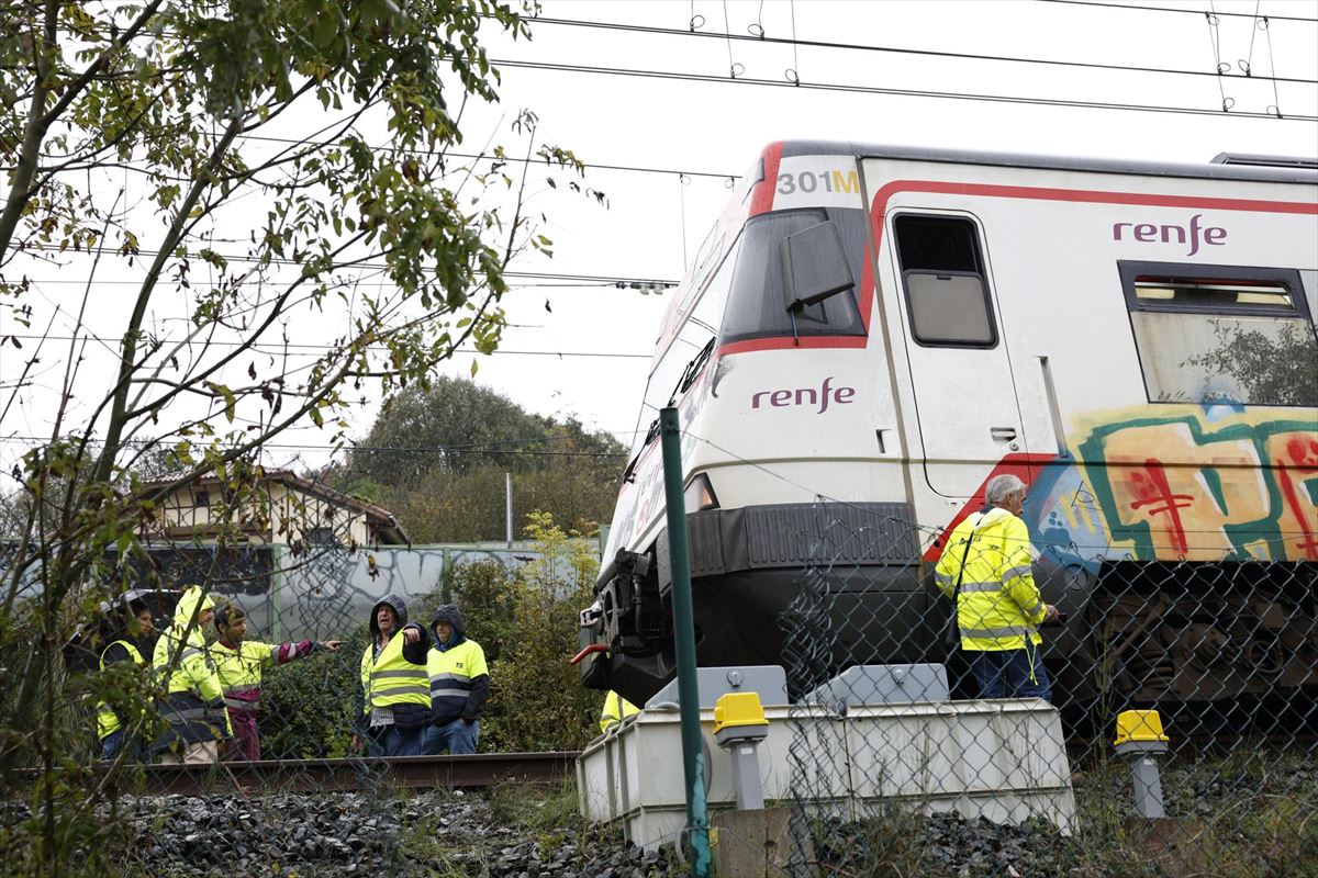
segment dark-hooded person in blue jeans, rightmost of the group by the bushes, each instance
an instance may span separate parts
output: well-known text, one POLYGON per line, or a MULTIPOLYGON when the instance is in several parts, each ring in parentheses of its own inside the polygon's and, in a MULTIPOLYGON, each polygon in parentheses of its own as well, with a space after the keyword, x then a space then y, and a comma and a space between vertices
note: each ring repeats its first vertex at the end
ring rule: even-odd
POLYGON ((434 646, 427 657, 430 727, 423 753, 453 756, 476 752, 480 716, 490 691, 485 650, 467 637, 467 619, 457 604, 444 604, 430 620, 434 646))

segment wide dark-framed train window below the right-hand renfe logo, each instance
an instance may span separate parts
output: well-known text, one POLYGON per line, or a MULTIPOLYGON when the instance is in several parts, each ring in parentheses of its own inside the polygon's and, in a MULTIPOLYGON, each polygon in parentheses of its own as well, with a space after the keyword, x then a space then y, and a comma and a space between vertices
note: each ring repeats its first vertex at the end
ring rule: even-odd
POLYGON ((1318 336, 1297 271, 1118 267, 1151 403, 1318 407, 1318 336))

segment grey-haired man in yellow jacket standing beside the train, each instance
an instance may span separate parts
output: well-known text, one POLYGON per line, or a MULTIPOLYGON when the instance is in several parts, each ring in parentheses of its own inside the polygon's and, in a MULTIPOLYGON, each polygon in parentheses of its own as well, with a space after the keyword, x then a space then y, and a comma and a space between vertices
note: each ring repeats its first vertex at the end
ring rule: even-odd
POLYGON ((985 487, 985 508, 952 532, 934 570, 942 594, 957 604, 961 649, 979 683, 979 698, 1041 698, 1052 687, 1039 654, 1039 625, 1057 621, 1029 565, 1029 529, 1020 520, 1025 483, 998 475, 985 487))

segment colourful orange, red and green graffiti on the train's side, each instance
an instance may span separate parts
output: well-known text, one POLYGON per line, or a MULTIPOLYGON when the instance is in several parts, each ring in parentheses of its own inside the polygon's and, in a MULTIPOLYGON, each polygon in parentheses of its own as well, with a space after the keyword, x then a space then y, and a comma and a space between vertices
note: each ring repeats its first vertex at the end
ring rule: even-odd
POLYGON ((1060 563, 1318 561, 1318 419, 1239 407, 1090 420, 1025 463, 1025 517, 1060 563))

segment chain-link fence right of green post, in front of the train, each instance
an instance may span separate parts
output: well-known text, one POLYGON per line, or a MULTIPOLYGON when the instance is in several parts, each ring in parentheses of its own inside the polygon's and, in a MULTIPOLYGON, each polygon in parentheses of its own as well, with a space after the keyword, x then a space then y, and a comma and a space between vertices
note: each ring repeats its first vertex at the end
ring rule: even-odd
POLYGON ((815 512, 784 870, 1318 874, 1318 565, 815 512))

